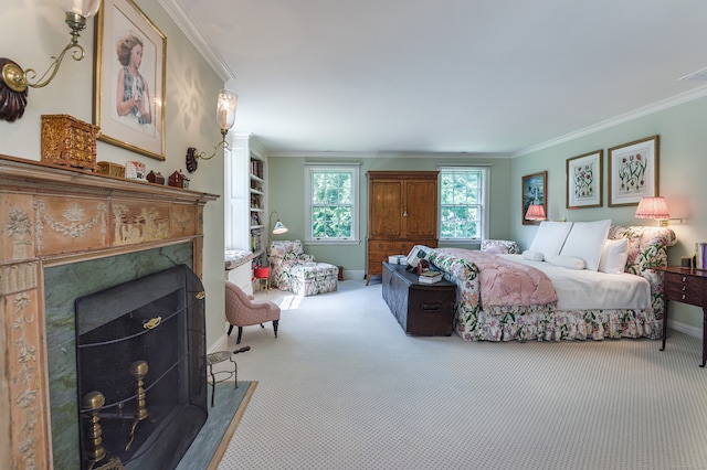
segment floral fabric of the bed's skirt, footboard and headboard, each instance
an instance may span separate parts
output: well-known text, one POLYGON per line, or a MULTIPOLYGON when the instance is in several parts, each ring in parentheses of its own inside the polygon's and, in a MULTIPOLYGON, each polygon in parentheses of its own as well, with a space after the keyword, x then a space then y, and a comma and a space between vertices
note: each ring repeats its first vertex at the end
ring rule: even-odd
POLYGON ((457 285, 454 329, 466 341, 659 339, 665 300, 663 274, 655 268, 667 266, 667 248, 675 245, 675 233, 665 227, 612 226, 609 238, 629 238, 625 270, 648 280, 652 308, 552 310, 546 313, 523 313, 509 309, 503 314, 487 314, 479 307, 476 265, 424 246, 415 246, 413 250, 421 250, 447 280, 457 285))

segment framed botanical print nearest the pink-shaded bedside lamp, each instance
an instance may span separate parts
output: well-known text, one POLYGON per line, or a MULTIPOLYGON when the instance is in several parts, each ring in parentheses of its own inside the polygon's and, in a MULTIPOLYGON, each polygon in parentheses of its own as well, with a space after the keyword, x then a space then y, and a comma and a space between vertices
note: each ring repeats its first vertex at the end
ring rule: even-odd
POLYGON ((609 206, 658 195, 658 136, 609 149, 609 206))

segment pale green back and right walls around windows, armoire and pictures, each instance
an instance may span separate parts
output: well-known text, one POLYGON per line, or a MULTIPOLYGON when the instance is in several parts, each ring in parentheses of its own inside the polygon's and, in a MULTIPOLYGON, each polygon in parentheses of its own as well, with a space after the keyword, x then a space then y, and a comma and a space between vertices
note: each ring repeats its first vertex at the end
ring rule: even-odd
MULTIPOLYGON (((289 232, 274 238, 303 238, 304 236, 304 164, 305 162, 361 163, 361 225, 359 246, 308 246, 307 252, 318 259, 344 266, 345 269, 365 270, 367 233, 367 180, 369 170, 435 170, 439 164, 492 165, 490 231, 492 238, 510 238, 527 249, 537 232, 535 225, 521 224, 520 181, 526 174, 548 172, 548 217, 550 220, 595 221, 611 218, 620 225, 657 225, 655 221, 634 217, 635 207, 608 205, 608 149, 641 138, 659 136, 658 193, 665 196, 671 215, 684 217, 673 221, 671 228, 677 235, 677 245, 668 250, 669 264, 679 264, 682 256, 692 256, 697 242, 707 242, 707 213, 701 210, 707 200, 705 170, 707 169, 707 98, 697 97, 674 106, 645 111, 634 118, 615 124, 605 122, 599 130, 578 132, 579 137, 560 139, 561 142, 531 151, 513 159, 497 156, 426 157, 377 156, 374 158, 277 157, 268 158, 270 209, 278 211, 289 232), (594 150, 603 150, 602 207, 566 209, 567 159, 594 150), (285 215, 286 214, 286 215, 285 215)), ((701 311, 677 302, 671 303, 671 322, 676 328, 699 334, 701 311), (673 323, 677 322, 677 324, 673 323)))

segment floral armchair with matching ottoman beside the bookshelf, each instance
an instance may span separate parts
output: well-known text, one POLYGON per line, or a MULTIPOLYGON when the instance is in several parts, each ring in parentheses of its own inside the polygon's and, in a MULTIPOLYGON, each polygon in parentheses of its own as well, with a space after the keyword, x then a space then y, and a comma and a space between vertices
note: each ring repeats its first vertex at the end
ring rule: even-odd
POLYGON ((274 241, 268 247, 271 284, 298 296, 316 296, 338 288, 339 268, 315 263, 303 250, 302 242, 274 241))

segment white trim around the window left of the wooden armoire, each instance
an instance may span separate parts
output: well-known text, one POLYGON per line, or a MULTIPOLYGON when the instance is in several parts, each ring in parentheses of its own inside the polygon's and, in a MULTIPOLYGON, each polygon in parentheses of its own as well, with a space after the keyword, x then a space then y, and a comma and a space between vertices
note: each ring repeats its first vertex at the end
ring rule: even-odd
POLYGON ((359 245, 359 218, 360 218, 360 200, 359 200, 359 173, 360 163, 305 163, 305 239, 306 245, 359 245), (351 238, 313 238, 312 237, 312 173, 314 171, 346 171, 350 170, 351 179, 351 238))

